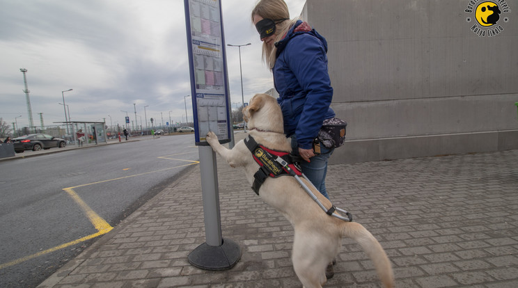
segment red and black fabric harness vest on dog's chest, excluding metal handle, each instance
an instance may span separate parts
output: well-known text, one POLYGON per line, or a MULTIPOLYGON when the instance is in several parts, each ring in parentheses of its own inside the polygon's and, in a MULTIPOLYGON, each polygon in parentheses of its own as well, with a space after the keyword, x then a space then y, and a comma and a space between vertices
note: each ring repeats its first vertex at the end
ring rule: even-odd
POLYGON ((260 145, 252 136, 246 136, 244 139, 246 147, 252 152, 253 159, 259 164, 260 168, 253 175, 252 190, 259 195, 259 188, 265 182, 267 177, 279 177, 284 175, 302 175, 302 170, 292 161, 293 155, 288 152, 268 149, 260 145), (281 157, 288 165, 282 166, 276 159, 281 157))

